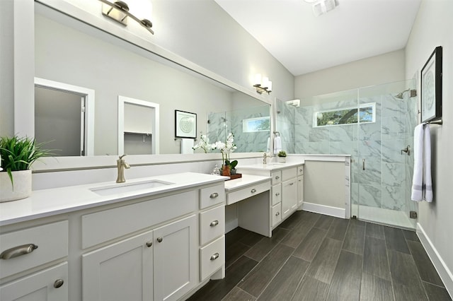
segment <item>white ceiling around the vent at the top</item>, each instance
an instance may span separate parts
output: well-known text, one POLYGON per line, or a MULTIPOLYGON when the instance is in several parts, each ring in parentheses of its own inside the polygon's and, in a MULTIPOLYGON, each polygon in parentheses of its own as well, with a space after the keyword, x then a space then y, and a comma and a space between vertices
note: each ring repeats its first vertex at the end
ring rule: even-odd
POLYGON ((420 0, 215 0, 294 76, 403 49, 420 0))

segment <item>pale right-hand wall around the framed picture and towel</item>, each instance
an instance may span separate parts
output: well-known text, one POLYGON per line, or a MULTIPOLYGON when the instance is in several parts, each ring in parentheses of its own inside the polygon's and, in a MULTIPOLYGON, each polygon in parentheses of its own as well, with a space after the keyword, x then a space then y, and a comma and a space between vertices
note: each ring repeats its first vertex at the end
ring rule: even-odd
MULTIPOLYGON (((449 269, 453 293, 453 1, 423 0, 406 46, 406 77, 420 77, 437 46, 443 47, 442 119, 431 126, 434 201, 420 203, 418 223, 449 269)), ((420 85, 420 83, 419 83, 420 85)), ((442 272, 441 272, 442 276, 442 272)), ((442 278, 445 281, 445 278, 442 278)), ((446 281, 445 281, 446 282, 446 281)))

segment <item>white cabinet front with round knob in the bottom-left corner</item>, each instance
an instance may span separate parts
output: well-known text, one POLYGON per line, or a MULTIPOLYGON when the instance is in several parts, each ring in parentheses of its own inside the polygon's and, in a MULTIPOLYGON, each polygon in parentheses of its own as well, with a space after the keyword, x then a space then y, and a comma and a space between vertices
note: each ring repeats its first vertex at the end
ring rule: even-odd
POLYGON ((68 300, 68 264, 59 264, 0 286, 1 301, 68 300))

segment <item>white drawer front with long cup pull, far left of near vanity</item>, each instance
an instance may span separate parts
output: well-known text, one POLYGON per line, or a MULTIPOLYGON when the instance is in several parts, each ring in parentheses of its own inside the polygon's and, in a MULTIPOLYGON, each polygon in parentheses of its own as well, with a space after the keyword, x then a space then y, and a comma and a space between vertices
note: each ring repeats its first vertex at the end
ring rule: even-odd
MULTIPOLYGON (((28 254, 9 259, 0 259, 0 278, 63 258, 68 254, 68 221, 41 225, 0 235, 0 253, 7 256, 6 250, 25 246, 28 254), (33 249, 34 244, 38 248, 33 249)), ((9 253, 11 254, 11 253, 9 253)))

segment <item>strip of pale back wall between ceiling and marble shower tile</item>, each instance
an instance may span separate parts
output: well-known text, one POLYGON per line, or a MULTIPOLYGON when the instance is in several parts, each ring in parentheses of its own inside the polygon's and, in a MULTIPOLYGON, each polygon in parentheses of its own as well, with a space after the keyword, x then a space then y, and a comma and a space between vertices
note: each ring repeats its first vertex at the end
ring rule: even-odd
POLYGON ((294 97, 303 100, 316 95, 403 81, 407 79, 404 58, 404 50, 401 49, 297 76, 294 79, 294 97))

